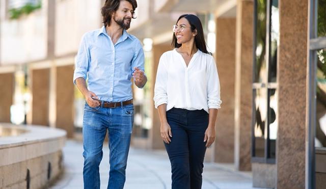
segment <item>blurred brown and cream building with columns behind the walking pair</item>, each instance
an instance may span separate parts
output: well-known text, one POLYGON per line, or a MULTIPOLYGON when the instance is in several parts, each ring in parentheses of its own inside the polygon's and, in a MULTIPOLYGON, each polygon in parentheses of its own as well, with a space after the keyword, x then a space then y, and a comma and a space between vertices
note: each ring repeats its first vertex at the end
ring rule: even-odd
MULTIPOLYGON (((82 35, 103 24, 103 0, 0 1, 0 122, 82 130, 72 83, 82 35)), ((199 16, 218 66, 222 109, 206 161, 252 171, 253 185, 326 184, 325 0, 140 0, 129 33, 144 45, 148 83, 134 88, 134 147, 159 149, 153 87, 172 25, 199 16)))

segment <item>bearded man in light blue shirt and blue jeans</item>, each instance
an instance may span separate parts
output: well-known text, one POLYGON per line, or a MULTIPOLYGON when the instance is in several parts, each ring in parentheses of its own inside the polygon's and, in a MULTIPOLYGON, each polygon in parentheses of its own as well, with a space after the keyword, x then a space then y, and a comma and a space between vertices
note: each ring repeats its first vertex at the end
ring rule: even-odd
POLYGON ((107 188, 124 186, 133 124, 131 77, 139 88, 147 82, 142 45, 126 32, 136 8, 135 0, 106 0, 101 11, 104 26, 86 33, 80 42, 73 80, 87 102, 84 188, 100 188, 99 164, 106 130, 110 148, 107 188))

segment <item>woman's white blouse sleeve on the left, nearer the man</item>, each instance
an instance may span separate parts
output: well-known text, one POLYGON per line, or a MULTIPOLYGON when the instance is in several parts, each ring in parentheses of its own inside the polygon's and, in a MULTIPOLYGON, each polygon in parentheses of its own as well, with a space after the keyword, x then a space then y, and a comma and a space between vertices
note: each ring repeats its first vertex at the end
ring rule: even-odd
POLYGON ((163 54, 159 59, 154 87, 154 104, 156 109, 159 105, 168 103, 167 83, 168 70, 166 68, 166 59, 163 54))

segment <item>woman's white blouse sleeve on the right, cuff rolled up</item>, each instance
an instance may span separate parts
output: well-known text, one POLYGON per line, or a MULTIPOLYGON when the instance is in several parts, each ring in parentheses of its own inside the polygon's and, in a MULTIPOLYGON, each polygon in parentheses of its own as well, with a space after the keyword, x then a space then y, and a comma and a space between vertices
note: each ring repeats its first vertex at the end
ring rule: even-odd
POLYGON ((220 79, 214 58, 208 60, 207 71, 207 105, 208 109, 221 108, 220 79))

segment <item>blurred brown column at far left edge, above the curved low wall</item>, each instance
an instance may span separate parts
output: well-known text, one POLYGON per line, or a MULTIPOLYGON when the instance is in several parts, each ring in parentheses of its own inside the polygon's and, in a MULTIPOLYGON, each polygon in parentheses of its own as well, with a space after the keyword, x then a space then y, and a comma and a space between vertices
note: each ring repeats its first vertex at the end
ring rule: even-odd
POLYGON ((14 73, 0 74, 0 122, 10 123, 10 106, 14 96, 14 73))

